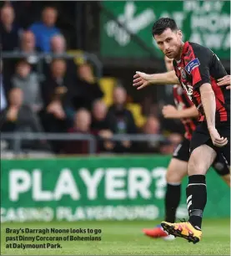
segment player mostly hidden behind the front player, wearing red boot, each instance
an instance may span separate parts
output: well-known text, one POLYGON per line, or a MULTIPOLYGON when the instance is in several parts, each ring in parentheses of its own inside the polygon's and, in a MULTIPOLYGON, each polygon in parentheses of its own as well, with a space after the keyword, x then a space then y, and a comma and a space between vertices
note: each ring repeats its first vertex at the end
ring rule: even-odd
MULTIPOLYGON (((173 70, 173 59, 164 58, 165 66, 168 71, 173 70)), ((222 84, 228 84, 224 77, 222 84)), ((169 163, 168 172, 166 175, 167 189, 164 198, 165 205, 165 221, 174 223, 176 212, 180 202, 181 182, 183 177, 187 176, 187 165, 189 159, 189 144, 192 133, 196 128, 198 110, 193 105, 193 102, 188 99, 188 95, 183 90, 181 85, 173 85, 173 98, 177 108, 173 105, 163 107, 163 116, 168 119, 180 119, 183 122, 185 134, 182 143, 180 143, 173 152, 173 158, 169 163)), ((224 182, 230 187, 230 174, 223 157, 217 157, 213 162, 214 170, 220 175, 224 182)), ((144 228, 143 233, 151 238, 163 238, 172 240, 174 237, 163 231, 161 225, 156 228, 144 228)))

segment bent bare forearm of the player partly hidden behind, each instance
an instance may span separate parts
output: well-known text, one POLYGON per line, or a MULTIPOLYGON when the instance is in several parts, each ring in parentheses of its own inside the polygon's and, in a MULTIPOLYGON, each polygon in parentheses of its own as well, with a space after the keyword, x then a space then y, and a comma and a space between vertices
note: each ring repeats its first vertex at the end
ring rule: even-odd
POLYGON ((198 117, 198 110, 195 105, 184 109, 177 110, 173 105, 165 105, 162 110, 164 118, 167 119, 182 119, 182 118, 196 118, 198 117))

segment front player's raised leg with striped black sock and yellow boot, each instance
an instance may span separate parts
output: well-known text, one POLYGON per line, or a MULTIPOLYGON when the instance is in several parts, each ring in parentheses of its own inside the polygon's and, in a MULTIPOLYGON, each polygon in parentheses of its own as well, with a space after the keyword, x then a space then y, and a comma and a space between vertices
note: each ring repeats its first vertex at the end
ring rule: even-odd
POLYGON ((208 130, 204 125, 198 125, 191 140, 191 156, 188 161, 187 205, 188 222, 162 223, 164 230, 175 236, 186 238, 189 242, 197 243, 202 232, 200 230, 203 209, 207 202, 205 174, 212 165, 217 153, 213 150, 208 130))

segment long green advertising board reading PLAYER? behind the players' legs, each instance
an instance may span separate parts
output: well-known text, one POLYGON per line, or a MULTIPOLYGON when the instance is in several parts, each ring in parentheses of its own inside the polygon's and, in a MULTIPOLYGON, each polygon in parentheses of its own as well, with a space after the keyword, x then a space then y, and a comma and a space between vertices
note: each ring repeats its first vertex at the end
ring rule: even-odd
MULTIPOLYGON (((1 221, 163 218, 170 157, 2 160, 1 221)), ((229 188, 208 172, 205 217, 228 217, 229 188)), ((187 218, 185 187, 178 218, 187 218)))

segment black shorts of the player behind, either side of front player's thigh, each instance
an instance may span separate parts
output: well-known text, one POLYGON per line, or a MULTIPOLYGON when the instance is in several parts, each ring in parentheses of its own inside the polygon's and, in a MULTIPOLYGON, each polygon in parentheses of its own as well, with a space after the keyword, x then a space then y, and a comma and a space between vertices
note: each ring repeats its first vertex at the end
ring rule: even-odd
MULTIPOLYGON (((173 152, 173 158, 188 162, 190 157, 189 148, 190 141, 184 138, 183 141, 176 147, 175 151, 173 152)), ((221 154, 218 154, 218 156, 214 160, 213 169, 218 173, 219 176, 224 176, 230 173, 228 165, 224 161, 221 154)))

